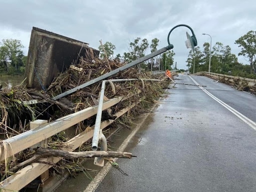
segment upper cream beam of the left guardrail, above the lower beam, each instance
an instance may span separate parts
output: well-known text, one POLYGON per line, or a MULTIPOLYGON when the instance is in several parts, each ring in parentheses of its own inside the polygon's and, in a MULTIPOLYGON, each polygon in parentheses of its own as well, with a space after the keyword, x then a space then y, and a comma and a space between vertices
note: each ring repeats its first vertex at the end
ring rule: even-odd
MULTIPOLYGON (((103 105, 103 110, 119 103, 128 97, 118 97, 110 99, 103 105)), ((84 110, 76 113, 69 114, 61 117, 46 125, 39 126, 38 128, 26 131, 19 135, 3 140, 3 144, 0 145, 0 161, 3 161, 24 149, 27 149, 61 131, 68 129, 69 127, 97 114, 97 106, 88 107, 84 110)))

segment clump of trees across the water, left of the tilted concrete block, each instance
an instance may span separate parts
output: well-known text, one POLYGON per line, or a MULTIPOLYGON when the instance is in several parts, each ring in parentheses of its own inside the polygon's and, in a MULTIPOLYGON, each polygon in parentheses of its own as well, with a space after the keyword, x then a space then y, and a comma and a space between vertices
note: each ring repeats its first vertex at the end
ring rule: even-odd
POLYGON ((24 56, 20 40, 3 39, 0 42, 0 75, 24 74, 27 56, 24 56))

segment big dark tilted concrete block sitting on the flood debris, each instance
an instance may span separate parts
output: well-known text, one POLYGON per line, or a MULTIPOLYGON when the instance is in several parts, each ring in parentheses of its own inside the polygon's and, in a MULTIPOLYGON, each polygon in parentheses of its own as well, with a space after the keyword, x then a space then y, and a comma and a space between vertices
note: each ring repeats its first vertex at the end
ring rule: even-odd
POLYGON ((25 71, 27 87, 46 89, 58 73, 64 72, 72 62, 76 63, 79 53, 90 60, 98 57, 100 52, 88 45, 33 27, 25 71))

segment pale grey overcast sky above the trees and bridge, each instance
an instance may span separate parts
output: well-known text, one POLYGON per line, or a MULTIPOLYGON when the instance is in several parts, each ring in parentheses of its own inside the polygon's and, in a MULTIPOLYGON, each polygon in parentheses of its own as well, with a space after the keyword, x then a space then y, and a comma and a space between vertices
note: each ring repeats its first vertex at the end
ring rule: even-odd
MULTIPOLYGON (((38 27, 63 36, 89 43, 98 49, 106 41, 116 46, 115 55, 128 52, 134 39, 160 40, 158 49, 168 45, 167 35, 178 24, 189 25, 202 50, 204 42, 212 46, 221 42, 237 54, 240 48, 235 40, 248 31, 256 30, 255 0, 0 0, 0 40, 18 39, 28 54, 32 27, 38 27)), ((189 49, 186 32, 179 27, 170 35, 174 45, 174 60, 179 69, 186 69, 189 49)), ((243 57, 238 61, 248 64, 243 57)))

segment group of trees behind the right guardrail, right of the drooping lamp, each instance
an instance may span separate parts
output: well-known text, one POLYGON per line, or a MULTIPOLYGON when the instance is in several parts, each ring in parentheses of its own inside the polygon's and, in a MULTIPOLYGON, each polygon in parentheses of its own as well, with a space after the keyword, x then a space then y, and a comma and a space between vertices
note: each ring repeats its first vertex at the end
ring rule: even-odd
MULTIPOLYGON (((249 31, 247 34, 235 41, 241 52, 238 56, 244 56, 249 65, 238 63, 237 57, 231 53, 231 48, 217 42, 211 51, 211 68, 213 73, 227 74, 256 79, 256 31, 249 31)), ((203 50, 196 47, 194 53, 189 52, 187 67, 190 73, 193 71, 208 71, 210 44, 204 43, 203 50), (195 66, 194 66, 195 65, 195 66)))

